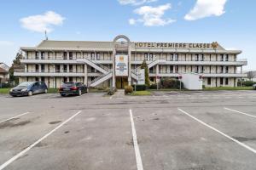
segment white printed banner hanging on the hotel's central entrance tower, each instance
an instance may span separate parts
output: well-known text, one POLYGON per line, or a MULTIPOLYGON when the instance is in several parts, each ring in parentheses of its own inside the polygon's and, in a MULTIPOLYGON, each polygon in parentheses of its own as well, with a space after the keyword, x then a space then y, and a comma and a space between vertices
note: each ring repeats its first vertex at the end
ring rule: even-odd
POLYGON ((115 55, 115 76, 128 77, 128 55, 115 55))

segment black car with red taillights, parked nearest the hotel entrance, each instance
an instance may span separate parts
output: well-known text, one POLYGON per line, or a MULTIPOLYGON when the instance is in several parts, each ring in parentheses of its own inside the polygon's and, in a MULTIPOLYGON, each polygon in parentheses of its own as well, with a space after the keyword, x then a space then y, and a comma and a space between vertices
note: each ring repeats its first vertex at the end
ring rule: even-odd
POLYGON ((61 96, 82 95, 87 93, 87 87, 82 82, 64 82, 59 88, 61 96))

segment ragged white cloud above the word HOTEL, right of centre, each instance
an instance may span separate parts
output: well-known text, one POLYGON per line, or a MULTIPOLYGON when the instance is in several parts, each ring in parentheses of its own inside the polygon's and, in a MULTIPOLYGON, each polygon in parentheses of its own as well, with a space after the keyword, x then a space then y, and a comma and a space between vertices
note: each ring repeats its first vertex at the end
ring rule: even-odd
POLYGON ((171 3, 166 3, 165 5, 160 5, 158 7, 143 6, 134 10, 135 14, 141 16, 141 18, 135 20, 130 19, 130 25, 135 25, 136 23, 143 23, 144 26, 166 26, 175 22, 176 20, 164 19, 163 15, 166 10, 172 8, 171 3))

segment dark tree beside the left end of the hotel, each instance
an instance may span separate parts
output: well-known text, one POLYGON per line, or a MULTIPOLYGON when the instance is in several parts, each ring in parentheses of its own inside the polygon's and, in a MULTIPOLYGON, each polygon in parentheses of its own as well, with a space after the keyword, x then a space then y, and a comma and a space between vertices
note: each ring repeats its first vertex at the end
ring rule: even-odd
POLYGON ((24 69, 24 65, 20 63, 20 59, 22 58, 22 53, 18 52, 13 60, 13 64, 9 68, 9 82, 14 82, 15 84, 19 83, 19 78, 15 77, 14 72, 16 69, 24 69))

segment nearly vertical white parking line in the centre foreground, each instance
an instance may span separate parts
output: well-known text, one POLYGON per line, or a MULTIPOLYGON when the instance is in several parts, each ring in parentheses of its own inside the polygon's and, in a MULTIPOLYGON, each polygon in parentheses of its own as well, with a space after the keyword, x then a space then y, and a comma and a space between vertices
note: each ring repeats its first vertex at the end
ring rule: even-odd
POLYGON ((143 161, 142 161, 139 146, 137 144, 137 133, 136 133, 131 109, 130 109, 130 118, 131 118, 131 131, 132 131, 133 145, 134 145, 136 162, 137 162, 137 170, 143 170, 143 161))

